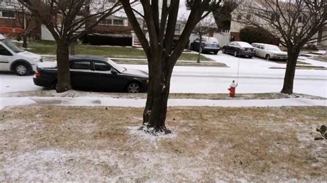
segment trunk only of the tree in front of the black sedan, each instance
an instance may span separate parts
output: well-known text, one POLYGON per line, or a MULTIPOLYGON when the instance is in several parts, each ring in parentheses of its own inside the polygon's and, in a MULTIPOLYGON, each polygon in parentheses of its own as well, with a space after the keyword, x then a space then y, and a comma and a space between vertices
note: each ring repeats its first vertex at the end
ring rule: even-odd
POLYGON ((70 85, 69 71, 69 44, 66 40, 57 41, 57 78, 56 90, 58 93, 66 92, 72 89, 70 85))

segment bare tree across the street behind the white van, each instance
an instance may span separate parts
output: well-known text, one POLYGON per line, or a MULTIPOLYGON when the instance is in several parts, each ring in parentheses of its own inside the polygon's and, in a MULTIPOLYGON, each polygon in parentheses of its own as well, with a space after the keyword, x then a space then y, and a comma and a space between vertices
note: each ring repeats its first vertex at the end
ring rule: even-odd
POLYGON ((25 30, 25 32, 21 33, 21 37, 23 39, 23 47, 28 47, 27 38, 32 34, 32 31, 37 28, 36 25, 32 25, 32 22, 34 21, 35 23, 36 21, 32 12, 30 12, 26 6, 23 6, 23 4, 19 3, 18 1, 2 1, 0 6, 1 11, 10 10, 10 12, 15 14, 15 19, 12 21, 12 26, 14 28, 21 28, 25 30))

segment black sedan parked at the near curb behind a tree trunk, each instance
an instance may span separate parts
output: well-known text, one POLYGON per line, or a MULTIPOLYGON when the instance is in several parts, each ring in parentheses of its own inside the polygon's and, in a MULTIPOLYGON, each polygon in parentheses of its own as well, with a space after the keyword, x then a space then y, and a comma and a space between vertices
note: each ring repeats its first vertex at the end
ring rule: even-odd
MULTIPOLYGON (((122 67, 100 56, 70 56, 70 80, 73 89, 139 93, 148 90, 148 73, 122 67)), ((37 65, 34 84, 54 88, 57 85, 57 64, 37 65)))

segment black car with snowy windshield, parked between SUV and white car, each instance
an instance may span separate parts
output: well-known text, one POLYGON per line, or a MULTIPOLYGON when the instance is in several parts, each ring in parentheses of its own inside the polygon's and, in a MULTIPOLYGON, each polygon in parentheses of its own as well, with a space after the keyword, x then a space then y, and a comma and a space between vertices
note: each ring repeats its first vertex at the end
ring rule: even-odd
POLYGON ((232 41, 223 47, 224 54, 233 54, 234 56, 248 56, 252 58, 255 55, 254 47, 249 43, 242 41, 232 41))

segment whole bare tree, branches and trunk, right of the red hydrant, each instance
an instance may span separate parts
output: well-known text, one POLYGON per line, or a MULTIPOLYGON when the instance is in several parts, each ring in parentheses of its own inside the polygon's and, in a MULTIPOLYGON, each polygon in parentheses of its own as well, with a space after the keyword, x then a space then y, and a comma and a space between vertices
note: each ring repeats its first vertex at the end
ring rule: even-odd
POLYGON ((243 1, 237 8, 241 19, 235 21, 264 28, 281 38, 281 45, 287 47, 288 61, 281 93, 293 93, 299 52, 306 43, 315 41, 317 32, 326 25, 326 3, 325 0, 250 0, 243 1))

